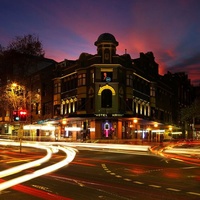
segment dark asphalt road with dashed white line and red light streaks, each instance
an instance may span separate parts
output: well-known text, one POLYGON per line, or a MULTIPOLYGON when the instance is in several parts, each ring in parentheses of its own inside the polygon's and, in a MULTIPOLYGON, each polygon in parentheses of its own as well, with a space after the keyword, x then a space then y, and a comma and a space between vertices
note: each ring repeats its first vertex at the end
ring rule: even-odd
MULTIPOLYGON (((45 155, 40 150, 1 149, 0 170, 45 155)), ((64 157, 56 154, 44 166, 64 157)), ((20 172, 0 182, 36 168, 20 172)), ((68 166, 3 190, 0 200, 199 200, 200 167, 149 152, 79 149, 68 166)))

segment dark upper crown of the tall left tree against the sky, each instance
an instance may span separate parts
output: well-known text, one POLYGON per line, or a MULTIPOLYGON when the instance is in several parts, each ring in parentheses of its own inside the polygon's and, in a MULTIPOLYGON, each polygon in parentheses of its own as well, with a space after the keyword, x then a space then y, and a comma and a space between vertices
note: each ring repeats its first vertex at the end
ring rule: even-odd
POLYGON ((2 84, 5 85, 10 81, 24 85, 24 79, 37 68, 37 63, 42 58, 44 58, 44 50, 37 36, 31 34, 17 36, 1 51, 2 84))

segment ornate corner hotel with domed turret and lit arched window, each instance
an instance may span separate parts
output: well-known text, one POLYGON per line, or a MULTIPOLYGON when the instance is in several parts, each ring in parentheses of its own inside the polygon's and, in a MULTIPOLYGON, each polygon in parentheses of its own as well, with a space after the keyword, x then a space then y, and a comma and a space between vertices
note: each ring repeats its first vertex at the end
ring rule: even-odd
POLYGON ((161 140, 172 124, 173 94, 158 74, 153 53, 137 59, 116 54, 110 33, 94 43, 97 54, 64 60, 54 78, 54 117, 60 136, 78 139, 161 140))

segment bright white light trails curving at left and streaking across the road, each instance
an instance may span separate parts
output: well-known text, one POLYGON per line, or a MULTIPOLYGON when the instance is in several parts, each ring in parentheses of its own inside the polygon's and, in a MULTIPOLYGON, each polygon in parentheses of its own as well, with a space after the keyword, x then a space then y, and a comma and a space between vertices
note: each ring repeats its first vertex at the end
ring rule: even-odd
MULTIPOLYGON (((19 143, 11 142, 11 141, 9 141, 9 142, 1 141, 0 145, 19 146, 19 143)), ((151 148, 148 145, 121 145, 121 144, 96 144, 96 143, 95 144, 94 143, 93 144, 84 144, 84 143, 67 143, 66 144, 63 142, 56 142, 56 143, 55 142, 42 142, 42 143, 40 142, 40 143, 36 143, 36 144, 23 143, 23 146, 44 149, 47 151, 47 155, 41 159, 1 171, 0 178, 17 173, 19 171, 22 171, 22 170, 25 170, 25 169, 28 169, 31 167, 41 165, 42 163, 47 162, 51 158, 52 153, 56 153, 57 151, 65 152, 66 158, 58 163, 55 163, 48 167, 39 169, 31 174, 26 174, 26 175, 11 179, 9 181, 3 182, 0 184, 0 191, 5 190, 6 188, 12 187, 14 185, 17 185, 19 183, 26 182, 26 181, 34 179, 36 177, 50 173, 50 172, 55 171, 65 165, 68 165, 74 159, 74 157, 76 155, 76 151, 73 149, 73 147, 90 147, 90 148, 99 148, 99 149, 126 149, 126 150, 139 150, 139 151, 149 151, 150 150, 152 153, 159 154, 163 157, 168 157, 171 159, 175 159, 175 158, 180 159, 181 158, 180 155, 177 156, 177 154, 183 153, 183 149, 182 149, 182 152, 181 152, 181 149, 178 150, 179 152, 176 152, 176 148, 172 149, 172 146, 170 146, 170 147, 165 146, 163 148, 159 147, 159 149, 157 149, 158 146, 156 146, 155 148, 151 148), (58 146, 58 145, 61 145, 61 146, 58 146), (71 146, 71 147, 64 147, 66 145, 71 146), (176 156, 175 156, 175 154, 174 154, 174 156, 170 156, 170 154, 167 154, 167 153, 169 153, 169 152, 167 152, 167 151, 169 151, 169 149, 170 149, 170 151, 173 151, 174 153, 176 152, 176 156)), ((175 147, 175 145, 173 145, 173 147, 175 147)), ((192 152, 193 151, 194 151, 194 149, 192 150, 192 152)), ((172 153, 172 152, 170 152, 170 153, 172 153)), ((186 152, 184 152, 184 153, 186 153, 186 152)), ((190 153, 191 152, 187 149, 187 154, 190 154, 190 153)), ((197 154, 197 151, 195 151, 195 153, 197 154)), ((186 161, 186 159, 184 161, 186 161)), ((191 160, 190 160, 190 162, 191 162, 191 160)), ((196 162, 196 164, 197 163, 199 163, 199 161, 196 162)))

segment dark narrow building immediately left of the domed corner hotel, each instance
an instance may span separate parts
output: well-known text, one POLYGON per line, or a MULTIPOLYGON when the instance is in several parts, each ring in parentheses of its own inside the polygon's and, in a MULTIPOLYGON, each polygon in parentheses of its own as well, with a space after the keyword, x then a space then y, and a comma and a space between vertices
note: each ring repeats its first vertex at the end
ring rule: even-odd
POLYGON ((39 69, 26 79, 27 110, 31 124, 53 118, 53 78, 56 62, 43 59, 39 69))

